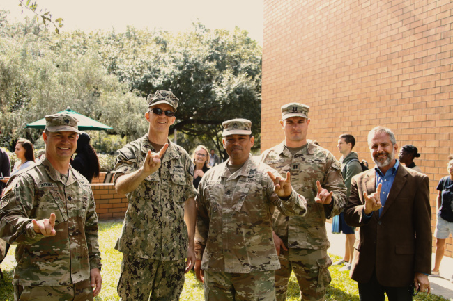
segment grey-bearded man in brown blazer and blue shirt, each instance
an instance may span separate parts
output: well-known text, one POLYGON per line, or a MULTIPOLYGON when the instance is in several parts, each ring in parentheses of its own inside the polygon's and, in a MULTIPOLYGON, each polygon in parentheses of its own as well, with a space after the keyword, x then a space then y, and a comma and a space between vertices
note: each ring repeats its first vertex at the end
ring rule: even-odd
POLYGON ((350 276, 361 301, 412 300, 427 291, 431 272, 429 179, 395 159, 394 133, 375 127, 368 145, 376 167, 353 177, 344 211, 359 228, 350 276))

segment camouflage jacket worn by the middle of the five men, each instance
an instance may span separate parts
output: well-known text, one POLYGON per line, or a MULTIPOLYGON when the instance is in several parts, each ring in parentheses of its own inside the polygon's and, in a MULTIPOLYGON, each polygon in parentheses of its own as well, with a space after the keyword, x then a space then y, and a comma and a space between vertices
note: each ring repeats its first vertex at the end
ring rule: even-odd
POLYGON ((229 160, 204 174, 197 197, 195 253, 210 272, 258 272, 280 268, 272 239, 272 213, 305 215, 305 199, 293 193, 281 200, 274 193, 267 165, 252 156, 231 174, 229 160), (206 250, 204 247, 206 245, 206 250), (201 256, 203 254, 203 256, 201 256))

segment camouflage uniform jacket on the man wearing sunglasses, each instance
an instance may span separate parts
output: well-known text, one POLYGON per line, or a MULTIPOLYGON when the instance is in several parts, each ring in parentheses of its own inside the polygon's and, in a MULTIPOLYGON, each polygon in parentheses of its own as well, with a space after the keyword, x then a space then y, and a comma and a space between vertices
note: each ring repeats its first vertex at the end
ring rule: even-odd
MULTIPOLYGON (((128 211, 115 245, 119 252, 162 261, 187 257, 184 202, 197 195, 192 184, 194 163, 182 147, 168 143, 159 170, 127 194, 128 211)), ((120 149, 114 183, 122 174, 141 168, 148 149, 155 152, 148 135, 120 149)))

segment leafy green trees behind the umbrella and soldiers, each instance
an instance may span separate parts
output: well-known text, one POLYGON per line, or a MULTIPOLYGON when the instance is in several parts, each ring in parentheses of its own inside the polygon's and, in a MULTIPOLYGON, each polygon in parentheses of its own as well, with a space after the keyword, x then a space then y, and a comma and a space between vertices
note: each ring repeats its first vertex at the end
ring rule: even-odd
POLYGON ((160 89, 180 99, 170 133, 177 130, 185 149, 223 151, 222 122, 234 117, 252 120, 259 149, 261 47, 247 31, 197 23, 178 34, 129 27, 56 35, 36 19, 6 16, 0 10, 0 145, 13 150, 20 137, 34 143, 41 131, 24 126, 69 106, 114 127, 107 133, 117 138, 102 134, 97 145, 114 152, 146 133, 146 96, 160 89))

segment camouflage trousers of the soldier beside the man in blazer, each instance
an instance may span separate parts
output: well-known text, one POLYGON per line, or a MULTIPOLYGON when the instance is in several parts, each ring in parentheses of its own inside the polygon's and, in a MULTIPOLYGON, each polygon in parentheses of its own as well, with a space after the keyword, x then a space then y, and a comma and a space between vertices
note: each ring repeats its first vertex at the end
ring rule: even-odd
POLYGON ((286 300, 291 270, 298 279, 300 300, 325 300, 325 289, 332 280, 328 270, 332 259, 327 250, 280 249, 279 261, 282 267, 275 271, 277 301, 286 300))

